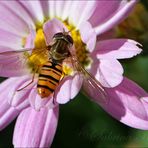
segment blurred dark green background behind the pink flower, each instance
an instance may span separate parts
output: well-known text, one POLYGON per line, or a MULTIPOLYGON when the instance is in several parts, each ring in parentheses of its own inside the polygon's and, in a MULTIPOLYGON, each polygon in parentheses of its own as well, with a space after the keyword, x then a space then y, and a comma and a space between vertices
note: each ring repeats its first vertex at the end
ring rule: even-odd
MULTIPOLYGON (((143 44, 141 55, 121 62, 125 70, 124 75, 148 91, 148 1, 143 0, 142 3, 142 10, 140 6, 138 13, 134 11, 122 24, 124 29, 119 25, 115 30, 116 36, 135 39, 143 44), (133 23, 129 24, 132 21, 140 25, 136 26, 134 23, 132 26, 133 23)), ((0 148, 12 147, 14 125, 15 121, 1 131, 0 148)), ((120 123, 81 93, 73 101, 60 106, 58 128, 52 148, 111 146, 148 147, 148 131, 133 129, 120 123)))

